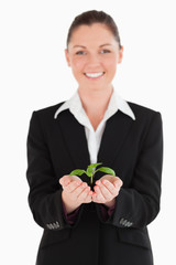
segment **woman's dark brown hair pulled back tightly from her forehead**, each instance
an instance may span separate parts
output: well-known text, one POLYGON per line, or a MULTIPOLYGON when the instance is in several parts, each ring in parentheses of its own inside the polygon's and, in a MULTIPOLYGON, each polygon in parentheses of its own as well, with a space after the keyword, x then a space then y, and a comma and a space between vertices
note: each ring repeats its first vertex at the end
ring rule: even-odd
POLYGON ((109 30, 114 35, 117 42, 119 43, 119 47, 121 49, 121 42, 120 42, 120 35, 119 30, 113 21, 113 19, 105 13, 103 11, 97 11, 97 10, 90 10, 87 12, 84 12, 75 18, 73 21, 67 35, 67 46, 70 42, 72 35, 74 30, 76 30, 79 25, 91 25, 94 23, 102 23, 109 28, 109 30))

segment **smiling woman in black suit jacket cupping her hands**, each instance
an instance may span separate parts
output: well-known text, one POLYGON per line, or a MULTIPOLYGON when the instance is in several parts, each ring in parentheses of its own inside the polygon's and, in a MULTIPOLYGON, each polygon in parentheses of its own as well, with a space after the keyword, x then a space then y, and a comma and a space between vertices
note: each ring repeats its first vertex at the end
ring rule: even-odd
POLYGON ((123 47, 113 19, 88 11, 70 25, 68 65, 78 89, 34 112, 28 136, 29 203, 44 229, 37 265, 152 265, 147 224, 160 211, 161 114, 118 96, 123 47), (69 176, 102 162, 116 177, 69 176))

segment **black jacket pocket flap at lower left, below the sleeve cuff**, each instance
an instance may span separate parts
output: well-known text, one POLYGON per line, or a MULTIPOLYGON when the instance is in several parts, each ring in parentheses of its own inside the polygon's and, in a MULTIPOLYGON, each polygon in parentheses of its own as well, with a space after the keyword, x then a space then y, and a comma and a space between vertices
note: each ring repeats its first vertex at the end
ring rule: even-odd
POLYGON ((58 244, 65 240, 69 239, 70 234, 70 229, 64 229, 64 230, 58 230, 58 231, 44 231, 40 248, 53 245, 53 244, 58 244))

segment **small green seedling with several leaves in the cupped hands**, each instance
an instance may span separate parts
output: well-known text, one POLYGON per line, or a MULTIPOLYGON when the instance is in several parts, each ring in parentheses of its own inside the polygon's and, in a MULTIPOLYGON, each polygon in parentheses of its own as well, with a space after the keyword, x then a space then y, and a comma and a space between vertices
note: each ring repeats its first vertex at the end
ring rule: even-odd
POLYGON ((74 174, 81 176, 82 173, 86 173, 87 177, 90 178, 90 184, 92 184, 92 178, 94 178, 94 176, 95 176, 95 173, 97 171, 101 171, 101 172, 105 172, 105 173, 109 173, 109 174, 116 176, 116 172, 111 168, 101 167, 101 168, 98 168, 96 170, 96 168, 99 165, 102 165, 102 163, 101 162, 99 162, 99 163, 90 163, 86 171, 84 169, 75 169, 69 174, 70 176, 74 176, 74 174))

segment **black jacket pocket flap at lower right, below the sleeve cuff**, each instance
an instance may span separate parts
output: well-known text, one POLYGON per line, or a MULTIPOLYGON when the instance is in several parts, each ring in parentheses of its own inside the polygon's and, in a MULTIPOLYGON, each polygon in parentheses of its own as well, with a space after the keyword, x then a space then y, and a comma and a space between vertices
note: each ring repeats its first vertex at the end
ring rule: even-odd
POLYGON ((151 250, 147 229, 118 229, 119 241, 151 250))

